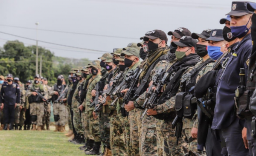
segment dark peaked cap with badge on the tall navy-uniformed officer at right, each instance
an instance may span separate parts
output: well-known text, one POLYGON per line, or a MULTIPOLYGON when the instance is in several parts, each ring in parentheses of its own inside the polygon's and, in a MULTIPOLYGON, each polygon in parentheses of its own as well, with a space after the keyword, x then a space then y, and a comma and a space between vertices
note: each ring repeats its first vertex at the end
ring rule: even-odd
POLYGON ((246 14, 253 14, 247 9, 247 1, 235 1, 232 2, 231 11, 226 15, 232 16, 244 16, 246 14))

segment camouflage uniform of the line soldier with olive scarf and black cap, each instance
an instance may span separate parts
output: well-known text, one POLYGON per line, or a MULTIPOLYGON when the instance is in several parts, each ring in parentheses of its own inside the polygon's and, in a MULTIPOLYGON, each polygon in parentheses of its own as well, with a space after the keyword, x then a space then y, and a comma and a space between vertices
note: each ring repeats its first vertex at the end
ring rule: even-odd
MULTIPOLYGON (((162 60, 159 61, 151 71, 151 76, 149 77, 148 81, 150 82, 154 73, 158 69, 165 68, 169 64, 168 61, 162 60)), ((139 98, 136 99, 137 104, 140 106, 143 105, 145 101, 145 95, 146 92, 144 92, 142 95, 140 95, 139 98)), ((138 120, 140 120, 141 114, 137 117, 138 120)), ((130 117, 130 114, 129 114, 130 117)), ((163 155, 163 139, 160 139, 162 137, 162 133, 160 129, 157 129, 156 126, 157 119, 153 116, 144 116, 142 120, 142 131, 141 131, 141 155, 142 156, 162 156, 163 155)))

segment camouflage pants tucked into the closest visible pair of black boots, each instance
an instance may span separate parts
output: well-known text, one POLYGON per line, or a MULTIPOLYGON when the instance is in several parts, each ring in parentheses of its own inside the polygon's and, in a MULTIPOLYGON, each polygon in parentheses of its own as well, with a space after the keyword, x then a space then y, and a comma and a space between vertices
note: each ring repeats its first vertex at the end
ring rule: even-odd
MULTIPOLYGON (((89 112, 89 114, 93 114, 93 112, 89 112)), ((90 133, 93 135, 94 142, 101 142, 102 139, 99 134, 99 117, 95 120, 93 116, 90 115, 89 129, 90 129, 90 133)))

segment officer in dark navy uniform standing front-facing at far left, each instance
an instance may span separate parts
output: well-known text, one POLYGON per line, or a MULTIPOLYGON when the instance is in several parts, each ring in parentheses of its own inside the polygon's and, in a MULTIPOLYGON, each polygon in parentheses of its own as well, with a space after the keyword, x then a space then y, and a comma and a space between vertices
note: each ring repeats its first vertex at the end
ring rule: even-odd
POLYGON ((1 109, 4 114, 4 130, 7 130, 7 124, 10 124, 10 130, 13 130, 15 107, 20 103, 20 87, 13 82, 12 74, 7 75, 7 82, 4 82, 0 95, 1 109))

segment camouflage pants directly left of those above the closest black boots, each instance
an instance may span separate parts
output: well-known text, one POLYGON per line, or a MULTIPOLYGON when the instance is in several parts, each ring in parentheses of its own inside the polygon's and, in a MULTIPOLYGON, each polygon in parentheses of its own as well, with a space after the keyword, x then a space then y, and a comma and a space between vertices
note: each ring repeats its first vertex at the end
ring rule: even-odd
POLYGON ((92 114, 88 114, 88 112, 83 112, 83 127, 84 127, 84 136, 85 139, 94 140, 92 133, 90 133, 90 121, 89 118, 93 117, 92 114))

